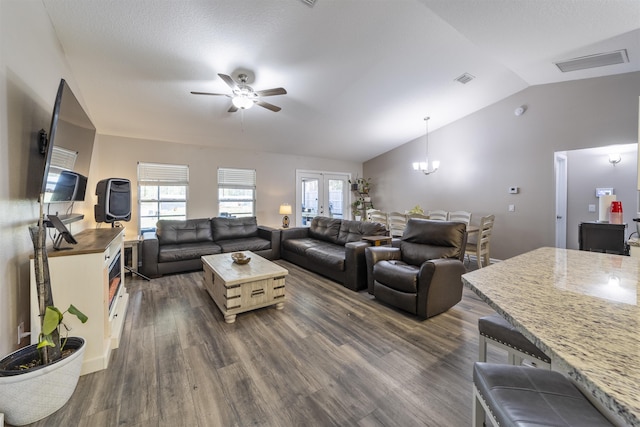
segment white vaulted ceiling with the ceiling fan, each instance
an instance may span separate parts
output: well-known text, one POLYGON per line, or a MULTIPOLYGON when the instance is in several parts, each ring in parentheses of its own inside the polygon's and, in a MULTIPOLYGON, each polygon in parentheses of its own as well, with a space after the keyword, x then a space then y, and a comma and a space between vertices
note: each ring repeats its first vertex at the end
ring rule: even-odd
MULTIPOLYGON (((365 161, 537 84, 640 70, 639 0, 42 0, 98 132, 365 161), (627 64, 554 61, 627 49, 627 64), (217 73, 287 95, 228 113, 217 73), (468 72, 476 79, 454 79, 468 72)), ((61 76, 65 77, 65 76, 61 76)), ((514 106, 514 108, 517 106, 514 106)))

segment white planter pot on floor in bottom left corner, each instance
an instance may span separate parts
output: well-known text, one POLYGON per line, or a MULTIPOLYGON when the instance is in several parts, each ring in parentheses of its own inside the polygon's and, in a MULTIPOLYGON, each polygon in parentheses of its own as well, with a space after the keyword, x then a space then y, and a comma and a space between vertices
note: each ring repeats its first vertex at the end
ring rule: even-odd
MULTIPOLYGON (((14 426, 22 426, 41 420, 62 408, 71 398, 82 368, 84 339, 79 348, 70 356, 42 368, 29 370, 11 376, 0 376, 0 412, 5 421, 14 426)), ((27 352, 35 344, 21 348, 10 355, 27 352)))

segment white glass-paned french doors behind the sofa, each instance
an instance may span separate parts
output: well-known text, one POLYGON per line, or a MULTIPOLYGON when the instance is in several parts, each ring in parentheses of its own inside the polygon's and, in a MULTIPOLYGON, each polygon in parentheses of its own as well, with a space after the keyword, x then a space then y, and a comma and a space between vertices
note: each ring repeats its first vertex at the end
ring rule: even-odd
POLYGON ((296 226, 315 216, 349 217, 349 174, 296 170, 296 226))

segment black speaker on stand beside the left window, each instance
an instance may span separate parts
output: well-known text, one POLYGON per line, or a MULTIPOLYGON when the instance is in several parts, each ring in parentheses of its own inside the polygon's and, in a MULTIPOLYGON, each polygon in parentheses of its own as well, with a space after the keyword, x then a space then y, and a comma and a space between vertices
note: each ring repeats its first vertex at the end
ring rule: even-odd
POLYGON ((129 221, 131 219, 131 181, 107 178, 96 185, 98 204, 94 207, 96 222, 129 221))

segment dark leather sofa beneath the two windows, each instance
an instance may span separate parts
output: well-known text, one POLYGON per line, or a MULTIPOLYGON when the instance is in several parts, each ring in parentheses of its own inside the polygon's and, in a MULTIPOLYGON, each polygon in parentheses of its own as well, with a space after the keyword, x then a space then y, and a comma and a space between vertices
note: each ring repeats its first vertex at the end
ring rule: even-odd
POLYGON ((280 230, 259 226, 255 217, 160 220, 142 238, 140 272, 148 277, 200 270, 203 255, 252 251, 280 258, 280 230))

